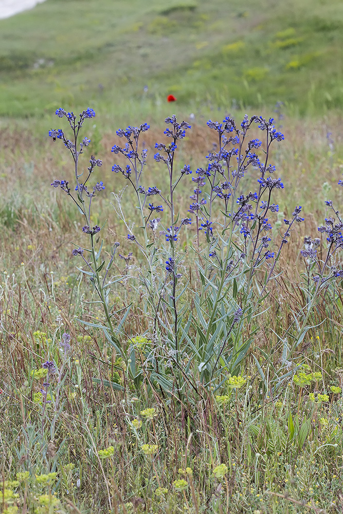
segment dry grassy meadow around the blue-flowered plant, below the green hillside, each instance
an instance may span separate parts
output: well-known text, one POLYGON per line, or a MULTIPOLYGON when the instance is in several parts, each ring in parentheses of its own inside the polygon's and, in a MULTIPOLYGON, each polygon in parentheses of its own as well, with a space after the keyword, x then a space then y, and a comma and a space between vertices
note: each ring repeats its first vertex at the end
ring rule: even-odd
MULTIPOLYGON (((156 118, 151 134, 146 133, 149 166, 144 183, 162 186, 165 173, 152 154, 164 127, 156 113, 150 116, 156 118)), ((118 125, 111 128, 109 115, 99 115, 94 121, 101 135, 94 144, 104 161, 94 179, 103 180, 106 191, 96 199, 93 221, 102 224, 107 218, 104 251, 118 240, 120 252, 126 255, 132 246, 125 242, 125 227, 110 204, 110 191, 119 191, 124 185, 110 172, 117 160, 110 148, 120 141, 114 134, 118 125)), ((128 117, 124 125, 131 123, 128 117)), ((286 216, 294 205, 303 205, 305 222, 292 233, 282 261, 283 275, 267 300, 269 310, 259 318, 258 332, 241 370, 247 382, 236 391, 226 383, 218 391, 206 389, 200 396, 190 391, 187 401, 153 391, 148 381, 138 391, 102 332, 75 320, 82 317, 98 322, 103 314, 97 305, 85 303, 92 299, 89 285, 80 281, 76 261, 71 258, 70 242, 81 241, 80 216, 68 198, 49 187, 53 178, 72 180, 72 163, 63 145, 42 136, 51 124, 47 115, 39 120, 13 121, 3 129, 0 471, 1 490, 6 494, 0 510, 7 514, 15 512, 12 507, 18 507, 17 512, 26 509, 42 514, 116 514, 125 509, 129 513, 196 514, 226 512, 228 504, 228 511, 234 514, 340 512, 343 406, 342 394, 330 388, 341 390, 341 286, 337 286, 340 300, 322 298, 318 303, 311 318, 317 326, 305 337, 294 359, 296 364, 308 364, 313 373, 320 372, 322 379, 308 379, 301 389, 287 378, 270 394, 282 359, 277 335, 285 330, 292 335, 292 313, 304 302, 299 289, 304 271, 299 258, 303 236, 316 234, 317 225, 329 215, 322 207, 324 199, 329 196, 341 205, 337 186, 343 163, 340 118, 331 114, 314 121, 286 116, 282 123, 286 138, 277 145, 272 159, 285 183, 277 201, 286 216), (327 130, 333 132, 333 152, 327 130), (63 332, 71 334, 71 353, 66 358, 59 346, 63 332), (58 380, 56 375, 51 378, 52 401, 43 411, 40 389, 44 379, 31 372, 39 370, 46 359, 54 359, 60 369, 63 366, 63 382, 57 401, 58 380), (128 380, 124 394, 111 389, 111 383, 124 383, 124 377, 128 380), (314 403, 310 393, 315 390, 328 394, 329 401, 314 403), (147 408, 155 409, 157 416, 148 419, 141 414, 147 408), (146 444, 158 446, 152 456, 145 454, 146 444), (104 457, 106 449, 108 456, 104 457), (227 466, 224 476, 214 473, 220 464, 227 466), (192 477, 183 471, 188 467, 192 477), (29 474, 26 478, 19 475, 18 484, 17 473, 23 472, 29 474), (44 476, 48 473, 56 473, 55 478, 44 476), (186 487, 185 494, 176 489, 178 480, 185 481, 176 482, 176 486, 186 487)), ((85 125, 84 134, 94 139, 95 130, 92 124, 85 125)), ((203 126, 195 123, 188 132, 179 145, 177 167, 186 160, 196 169, 204 165, 214 138, 205 120, 203 126)), ((88 150, 92 152, 92 148, 87 155, 88 150)), ((85 167, 86 156, 82 162, 85 167)), ((192 189, 191 182, 185 184, 192 189)), ((182 212, 187 212, 188 189, 177 199, 182 212)), ((129 193, 124 194, 122 204, 133 217, 129 193)), ((187 269, 193 266, 192 245, 190 235, 187 269)), ((134 264, 141 266, 137 252, 134 264)), ((114 269, 123 277, 114 292, 115 309, 133 302, 125 324, 127 336, 121 337, 127 345, 127 337, 142 335, 149 327, 150 314, 144 295, 125 283, 124 262, 117 259, 114 269)), ((193 284, 195 277, 196 273, 193 284)), ((256 327, 254 321, 247 331, 256 327)), ((141 364, 136 364, 138 369, 141 364)))

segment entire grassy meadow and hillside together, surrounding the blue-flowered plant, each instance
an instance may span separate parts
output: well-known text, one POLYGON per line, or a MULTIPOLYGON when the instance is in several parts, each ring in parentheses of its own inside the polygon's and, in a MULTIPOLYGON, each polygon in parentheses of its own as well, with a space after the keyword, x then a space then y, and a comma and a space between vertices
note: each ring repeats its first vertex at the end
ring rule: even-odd
MULTIPOLYGON (((308 305, 304 236, 317 236, 332 214, 324 200, 342 205, 342 27, 338 0, 249 0, 244 8, 227 0, 47 0, 0 21, 2 514, 341 513, 341 279, 320 292, 308 319, 312 328, 287 357, 308 305), (168 94, 177 102, 168 104, 168 94), (275 112, 277 101, 283 105, 275 112), (75 177, 67 149, 47 137, 49 128, 64 128, 53 113, 88 106, 97 116, 83 128, 91 143, 80 169, 90 155, 102 159, 92 180, 106 186, 89 221, 102 227, 106 220, 106 258, 118 241, 128 259, 116 254, 111 268, 118 279, 111 292, 115 328, 128 313, 119 334, 123 356, 99 329, 103 310, 88 303, 97 297, 76 267, 80 256, 71 255, 86 244, 82 217, 69 197, 50 187, 62 177, 72 185, 75 177), (282 124, 285 140, 270 161, 285 186, 273 197, 280 206, 275 216, 290 218, 301 205, 305 221, 292 230, 278 262, 282 273, 258 303, 260 311, 237 330, 249 343, 237 370, 219 361, 220 374, 205 384, 196 358, 187 367, 191 355, 182 355, 185 382, 170 391, 176 365, 164 383, 147 364, 153 349, 168 367, 166 341, 154 347, 146 290, 130 278, 148 272, 128 242, 112 192, 137 233, 141 220, 137 198, 123 190, 128 181, 111 171, 124 163, 111 148, 122 144, 118 128, 148 121, 144 185, 163 188, 168 174, 152 156, 155 142, 170 142, 163 136, 165 117, 175 113, 192 125, 178 142, 175 170, 186 163, 196 170, 207 166, 205 156, 218 142, 207 119, 222 121, 229 112, 236 121, 247 112, 282 124), (46 361, 55 362, 56 373, 43 367, 46 361)), ((245 176, 251 191, 255 171, 245 176)), ((188 177, 175 193, 183 216, 192 189, 188 177)), ((176 252, 184 275, 190 270, 189 283, 180 280, 187 286, 181 307, 193 313, 190 342, 199 344, 204 331, 195 326, 191 290, 205 287, 194 262, 207 243, 202 233, 197 246, 194 225, 176 252)), ((274 227, 273 234, 278 237, 274 227)), ((320 252, 324 246, 325 235, 320 252)), ((341 268, 336 256, 333 264, 341 268)), ((163 251, 158 258, 164 268, 163 251)), ((209 267, 206 280, 212 273, 209 267)), ((237 284, 231 290, 227 302, 247 293, 237 284)), ((210 296, 202 305, 207 322, 210 296)), ((220 334, 224 325, 218 322, 220 334)))

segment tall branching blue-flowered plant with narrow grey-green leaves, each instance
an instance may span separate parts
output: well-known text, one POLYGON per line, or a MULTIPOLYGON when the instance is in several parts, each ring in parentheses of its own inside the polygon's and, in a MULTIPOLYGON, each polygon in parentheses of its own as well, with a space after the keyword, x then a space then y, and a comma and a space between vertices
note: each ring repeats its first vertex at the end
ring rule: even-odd
MULTIPOLYGON (((116 327, 113 323, 117 313, 110 302, 110 291, 122 276, 110 278, 109 271, 119 243, 114 243, 105 266, 101 258, 102 242, 96 249, 104 225, 92 227, 91 223, 93 198, 104 185, 97 182, 92 188, 88 181, 102 162, 92 156, 88 174, 82 181, 78 171, 80 154, 89 144, 89 139, 84 138, 78 149, 79 131, 83 122, 95 113, 88 108, 78 119, 64 109, 57 109, 56 114, 67 119, 73 132, 73 141, 66 139, 61 129, 51 130, 49 135, 61 139, 73 156, 76 193, 65 179, 54 180, 51 185, 70 196, 84 218, 82 230, 89 237, 89 247, 75 245, 73 255, 82 259, 84 265, 79 269, 92 283, 106 320, 105 324, 83 323, 103 330, 125 362, 123 372, 137 388, 146 380, 149 387, 175 390, 180 395, 184 387, 198 393, 199 384, 213 387, 215 383, 218 389, 229 376, 231 380, 240 378, 243 359, 257 329, 254 320, 263 313, 268 283, 277 277, 276 265, 282 248, 288 244, 296 224, 304 219, 301 206, 295 207, 292 217, 287 219, 273 201, 275 192, 284 188, 281 178, 274 178, 276 168, 269 162, 272 146, 284 139, 275 128, 274 119, 261 116, 249 119, 246 115, 240 125, 230 117, 222 123, 209 120, 207 126, 218 142, 206 156, 206 164, 193 173, 187 163, 177 169, 178 145, 191 126, 185 121, 179 123, 175 116, 166 118, 164 135, 170 142, 155 144, 154 160, 165 167, 167 190, 156 185, 157 180, 150 186, 143 183, 148 155, 147 149, 141 146, 141 136, 150 126, 142 123, 117 131, 124 145, 114 144, 112 153, 124 159, 125 164, 114 163, 112 171, 121 174, 131 187, 130 204, 134 198, 140 218, 137 229, 131 219, 132 209, 130 218, 123 210, 126 188, 114 193, 115 212, 127 229, 128 244, 133 247, 127 256, 119 254, 126 265, 125 281, 130 280, 131 290, 140 294, 141 308, 149 319, 148 330, 143 334, 146 344, 137 345, 125 334, 130 307, 116 327), (249 137, 256 125, 262 132, 262 140, 249 137), (189 178, 193 186, 192 203, 185 214, 178 208, 177 199, 179 188, 184 191, 189 178), (245 191, 254 182, 257 190, 245 191), (155 214, 158 216, 153 217, 155 214), (182 241, 189 240, 191 234, 195 283, 186 272, 187 250, 182 247, 182 241), (139 253, 145 264, 129 265, 139 253), (104 277, 100 276, 102 270, 104 277), (243 337, 246 326, 250 327, 249 334, 243 337), (121 343, 121 334, 125 335, 125 341, 129 340, 128 345, 121 343)), ((332 256, 340 245, 337 242, 341 241, 339 227, 328 219, 322 232, 328 234, 332 256)), ((309 248, 302 254, 312 263, 315 257, 311 244, 309 239, 309 248)), ((340 276, 340 270, 335 268, 333 274, 340 276)), ((323 283, 322 274, 320 277, 314 280, 316 284, 323 283)), ((309 310, 313 305, 314 302, 309 310)), ((305 324, 298 327, 294 347, 308 329, 305 324)), ((231 387, 241 385, 235 382, 231 387)), ((123 388, 119 382, 114 387, 123 388)))

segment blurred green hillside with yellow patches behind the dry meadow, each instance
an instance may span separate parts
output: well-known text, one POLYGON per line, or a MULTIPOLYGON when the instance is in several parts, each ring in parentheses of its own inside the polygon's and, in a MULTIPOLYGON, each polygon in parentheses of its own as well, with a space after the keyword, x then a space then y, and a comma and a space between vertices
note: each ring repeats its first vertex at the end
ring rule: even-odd
POLYGON ((47 0, 0 21, 0 115, 151 112, 169 93, 193 110, 340 109, 342 28, 339 0, 47 0))

